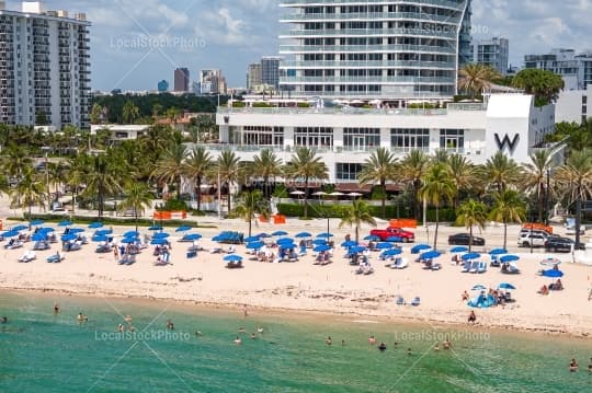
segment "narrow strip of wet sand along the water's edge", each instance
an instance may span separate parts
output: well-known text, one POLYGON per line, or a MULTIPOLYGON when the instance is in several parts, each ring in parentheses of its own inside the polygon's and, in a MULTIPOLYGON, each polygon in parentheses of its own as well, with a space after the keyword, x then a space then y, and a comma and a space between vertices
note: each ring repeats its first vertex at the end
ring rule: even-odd
MULTIPOLYGON (((230 303, 230 302, 216 302, 216 301, 200 301, 187 299, 175 299, 168 297, 153 297, 153 296, 132 296, 124 292, 90 292, 90 291, 77 291, 66 290, 59 288, 16 288, 16 287, 0 287, 0 292, 5 291, 14 294, 22 292, 34 293, 35 296, 49 297, 56 294, 59 297, 78 297, 82 299, 100 300, 101 298, 128 300, 130 302, 140 301, 157 301, 161 303, 169 303, 177 307, 181 307, 183 311, 189 310, 190 307, 197 307, 200 310, 213 311, 220 310, 230 313, 240 313, 243 303, 230 303)), ((153 307, 155 304, 150 304, 153 307)), ((588 339, 590 333, 574 333, 570 331, 563 331, 558 328, 545 328, 545 327, 527 327, 520 325, 504 325, 501 323, 482 323, 476 324, 462 323, 459 321, 437 319, 437 317, 417 317, 410 315, 387 315, 376 313, 363 313, 357 311, 329 311, 322 309, 303 309, 303 308, 283 308, 283 307, 262 307, 258 304, 248 304, 249 312, 258 312, 267 315, 281 315, 291 320, 310 320, 321 317, 323 320, 343 319, 349 323, 383 323, 383 324, 405 324, 407 327, 418 327, 422 330, 443 331, 443 330, 465 330, 465 331, 479 331, 486 330, 488 333, 503 333, 510 335, 532 335, 535 334, 539 337, 561 337, 567 339, 588 339), (369 320, 358 321, 360 317, 369 320)), ((426 310, 430 311, 430 310, 426 310)), ((449 314, 449 313, 448 313, 449 314)), ((252 315, 250 315, 252 316, 252 315)), ((249 316, 249 317, 250 317, 249 316)), ((340 322, 343 322, 341 320, 340 322)))

